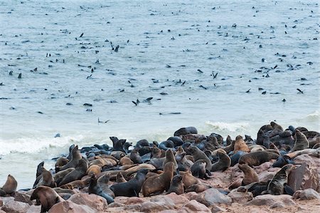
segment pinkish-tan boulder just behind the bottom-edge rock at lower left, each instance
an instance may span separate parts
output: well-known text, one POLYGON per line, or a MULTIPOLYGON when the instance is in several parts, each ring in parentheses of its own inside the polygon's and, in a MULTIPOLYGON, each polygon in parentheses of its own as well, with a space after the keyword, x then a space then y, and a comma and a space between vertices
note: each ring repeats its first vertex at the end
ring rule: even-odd
POLYGON ((97 194, 73 194, 68 200, 76 204, 84 204, 92 209, 96 209, 97 211, 102 211, 108 205, 107 200, 97 194))

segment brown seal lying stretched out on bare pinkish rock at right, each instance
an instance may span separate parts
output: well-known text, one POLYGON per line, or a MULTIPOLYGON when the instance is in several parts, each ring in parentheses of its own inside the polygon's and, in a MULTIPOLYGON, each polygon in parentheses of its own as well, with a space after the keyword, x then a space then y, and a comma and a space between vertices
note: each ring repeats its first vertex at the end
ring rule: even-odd
POLYGON ((262 165, 272 159, 277 159, 279 155, 273 152, 257 151, 242 155, 239 159, 239 164, 247 164, 250 167, 262 165))

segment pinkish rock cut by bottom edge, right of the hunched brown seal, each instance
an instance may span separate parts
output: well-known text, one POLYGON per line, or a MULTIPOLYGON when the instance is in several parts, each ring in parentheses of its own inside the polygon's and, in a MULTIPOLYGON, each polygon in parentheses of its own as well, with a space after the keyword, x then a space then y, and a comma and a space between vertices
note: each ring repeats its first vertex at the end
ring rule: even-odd
POLYGON ((94 213, 97 212, 95 209, 91 209, 82 204, 76 204, 69 200, 59 202, 54 204, 53 207, 49 210, 49 213, 61 213, 61 212, 68 212, 68 213, 94 213))

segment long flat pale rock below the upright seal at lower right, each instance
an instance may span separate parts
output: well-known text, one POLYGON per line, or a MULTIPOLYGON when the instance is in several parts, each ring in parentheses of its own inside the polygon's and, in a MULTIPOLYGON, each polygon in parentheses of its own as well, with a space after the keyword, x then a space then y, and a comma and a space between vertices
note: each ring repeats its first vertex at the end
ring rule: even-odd
MULTIPOLYGON (((255 198, 253 198, 250 202, 247 202, 247 205, 255 205, 255 206, 261 206, 261 205, 267 205, 272 206, 273 204, 277 202, 282 202, 285 207, 287 206, 293 206, 296 205, 296 203, 292 200, 292 196, 288 194, 282 194, 282 195, 272 195, 272 194, 264 194, 259 195, 255 198)), ((277 204, 279 205, 279 204, 277 204)))

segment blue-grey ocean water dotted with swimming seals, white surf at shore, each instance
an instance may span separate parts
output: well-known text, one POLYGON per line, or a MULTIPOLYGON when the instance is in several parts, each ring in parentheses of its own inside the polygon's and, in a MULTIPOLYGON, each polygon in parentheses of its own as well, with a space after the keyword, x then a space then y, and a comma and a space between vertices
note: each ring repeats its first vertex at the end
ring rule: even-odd
POLYGON ((110 136, 161 141, 195 126, 255 138, 272 120, 319 131, 316 0, 0 8, 0 186, 11 174, 32 187, 39 162, 110 136))

